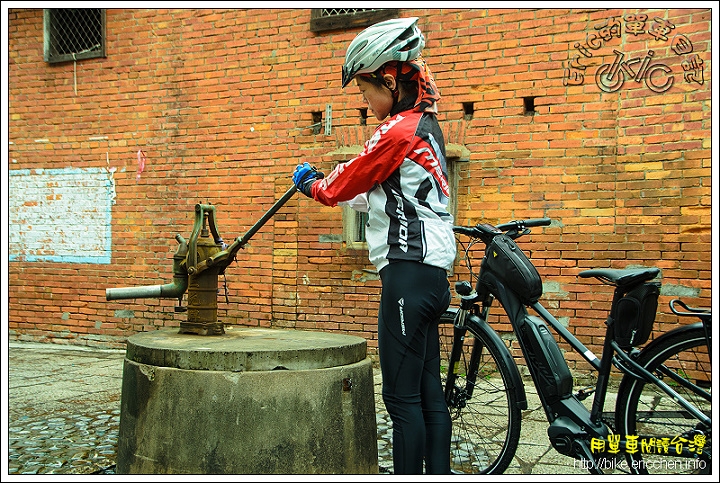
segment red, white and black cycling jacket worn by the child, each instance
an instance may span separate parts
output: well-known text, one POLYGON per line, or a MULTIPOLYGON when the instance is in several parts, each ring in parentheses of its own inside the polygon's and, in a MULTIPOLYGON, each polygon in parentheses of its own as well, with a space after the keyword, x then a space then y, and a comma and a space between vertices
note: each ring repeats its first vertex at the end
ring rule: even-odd
POLYGON ((365 236, 378 270, 392 260, 452 267, 456 247, 447 211, 445 143, 433 114, 403 111, 391 117, 360 155, 314 183, 312 196, 328 206, 368 212, 365 236))

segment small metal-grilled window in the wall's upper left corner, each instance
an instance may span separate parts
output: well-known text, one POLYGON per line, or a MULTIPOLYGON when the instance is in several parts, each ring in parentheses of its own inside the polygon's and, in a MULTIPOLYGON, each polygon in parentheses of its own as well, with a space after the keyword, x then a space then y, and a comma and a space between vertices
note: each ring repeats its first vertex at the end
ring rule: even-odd
POLYGON ((104 8, 46 8, 45 62, 105 57, 104 8))

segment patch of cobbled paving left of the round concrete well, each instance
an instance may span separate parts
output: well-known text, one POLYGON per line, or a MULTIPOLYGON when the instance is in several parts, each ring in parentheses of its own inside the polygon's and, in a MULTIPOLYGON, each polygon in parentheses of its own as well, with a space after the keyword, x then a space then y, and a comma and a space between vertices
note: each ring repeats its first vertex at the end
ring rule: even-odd
POLYGON ((11 344, 8 474, 113 468, 125 351, 11 344))

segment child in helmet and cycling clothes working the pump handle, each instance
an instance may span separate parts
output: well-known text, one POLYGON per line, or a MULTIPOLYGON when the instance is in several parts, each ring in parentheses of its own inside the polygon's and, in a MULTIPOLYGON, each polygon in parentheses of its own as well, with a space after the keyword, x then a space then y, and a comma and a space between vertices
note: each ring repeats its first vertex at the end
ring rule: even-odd
POLYGON ((425 39, 417 21, 380 22, 350 43, 342 87, 355 79, 385 122, 360 155, 327 177, 304 163, 293 181, 324 205, 368 212, 370 261, 382 281, 378 349, 394 473, 422 473, 424 459, 427 473, 447 474, 451 421, 440 382, 438 321, 450 303, 447 270, 456 242, 436 118, 440 95, 420 56, 425 39))

